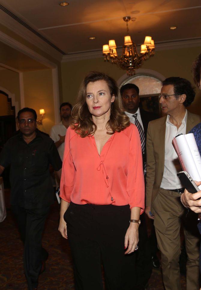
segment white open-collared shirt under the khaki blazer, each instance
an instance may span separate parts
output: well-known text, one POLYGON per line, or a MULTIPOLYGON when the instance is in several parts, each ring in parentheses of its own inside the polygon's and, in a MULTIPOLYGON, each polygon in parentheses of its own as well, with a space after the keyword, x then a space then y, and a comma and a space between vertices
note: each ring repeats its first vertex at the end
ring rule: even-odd
POLYGON ((170 122, 170 115, 167 115, 166 132, 165 132, 165 166, 164 175, 161 182, 161 188, 177 189, 182 188, 180 179, 177 173, 182 170, 179 158, 172 145, 172 140, 179 134, 186 134, 186 119, 187 111, 182 120, 182 124, 177 130, 177 127, 170 122))

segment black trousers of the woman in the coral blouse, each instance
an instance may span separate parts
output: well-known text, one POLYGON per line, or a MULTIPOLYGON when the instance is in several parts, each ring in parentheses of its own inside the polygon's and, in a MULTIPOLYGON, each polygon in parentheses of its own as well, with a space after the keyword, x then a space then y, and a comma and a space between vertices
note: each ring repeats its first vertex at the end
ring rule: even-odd
MULTIPOLYGON (((134 289, 134 259, 125 256, 129 205, 76 205, 64 214, 73 257, 76 290, 102 290, 101 260, 106 289, 134 289)), ((135 253, 134 253, 135 255, 135 253)))

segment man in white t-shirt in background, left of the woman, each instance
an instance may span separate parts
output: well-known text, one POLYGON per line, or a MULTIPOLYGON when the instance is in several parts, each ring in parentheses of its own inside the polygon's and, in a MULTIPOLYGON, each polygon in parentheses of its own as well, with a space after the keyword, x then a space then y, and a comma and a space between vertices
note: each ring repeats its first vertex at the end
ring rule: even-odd
POLYGON ((66 130, 69 126, 72 105, 70 103, 62 103, 60 105, 61 122, 52 127, 50 131, 50 138, 55 142, 61 160, 64 155, 64 141, 66 130))

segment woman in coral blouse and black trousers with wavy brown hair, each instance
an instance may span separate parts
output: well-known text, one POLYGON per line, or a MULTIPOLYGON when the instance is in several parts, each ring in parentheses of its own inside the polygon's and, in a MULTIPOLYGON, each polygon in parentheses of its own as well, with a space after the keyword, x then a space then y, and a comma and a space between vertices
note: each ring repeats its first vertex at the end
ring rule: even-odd
POLYGON ((75 289, 133 289, 140 214, 142 150, 122 109, 116 82, 91 72, 83 80, 65 137, 59 231, 68 238, 75 289))

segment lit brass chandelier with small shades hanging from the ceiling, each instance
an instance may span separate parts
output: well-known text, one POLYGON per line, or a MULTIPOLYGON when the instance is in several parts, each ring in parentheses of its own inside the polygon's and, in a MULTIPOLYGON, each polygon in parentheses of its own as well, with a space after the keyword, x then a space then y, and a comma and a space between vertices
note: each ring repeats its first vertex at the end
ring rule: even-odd
POLYGON ((122 55, 119 56, 117 54, 115 40, 109 40, 109 45, 103 45, 103 55, 105 61, 118 65, 122 70, 127 71, 128 76, 133 76, 135 71, 143 64, 143 61, 154 56, 155 45, 152 37, 146 36, 139 54, 136 44, 132 42, 129 34, 128 21, 130 21, 131 17, 125 16, 123 19, 126 22, 127 36, 124 37, 122 55))

